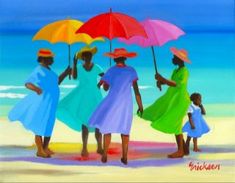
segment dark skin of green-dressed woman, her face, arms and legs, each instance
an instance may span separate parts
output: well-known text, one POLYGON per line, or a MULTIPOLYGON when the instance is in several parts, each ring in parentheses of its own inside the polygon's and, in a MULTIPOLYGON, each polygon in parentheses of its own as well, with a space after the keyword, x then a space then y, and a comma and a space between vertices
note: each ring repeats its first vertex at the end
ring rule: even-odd
MULTIPOLYGON (((184 61, 182 61, 180 58, 174 55, 172 59, 172 63, 174 65, 178 65, 177 71, 179 71, 182 67, 184 67, 184 61)), ((161 85, 168 85, 170 87, 176 87, 177 84, 175 81, 168 80, 164 77, 162 77, 160 74, 155 75, 155 79, 157 80, 157 87, 161 90, 161 85)), ((168 155, 169 158, 177 158, 177 157, 183 157, 184 155, 189 154, 189 149, 184 141, 183 134, 175 135, 178 151, 175 153, 172 153, 168 155)))

